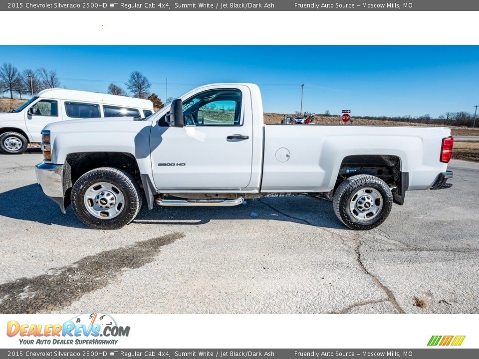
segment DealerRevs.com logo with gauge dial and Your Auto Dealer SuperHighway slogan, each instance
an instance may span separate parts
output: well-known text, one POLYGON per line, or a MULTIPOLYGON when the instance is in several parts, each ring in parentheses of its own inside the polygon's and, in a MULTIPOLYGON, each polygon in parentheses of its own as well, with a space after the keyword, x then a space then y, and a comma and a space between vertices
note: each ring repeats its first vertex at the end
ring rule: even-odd
POLYGON ((116 338, 128 337, 129 334, 129 326, 118 326, 112 317, 101 313, 82 314, 63 324, 23 324, 9 321, 6 327, 8 337, 18 336, 20 344, 26 345, 114 345, 118 343, 116 338))

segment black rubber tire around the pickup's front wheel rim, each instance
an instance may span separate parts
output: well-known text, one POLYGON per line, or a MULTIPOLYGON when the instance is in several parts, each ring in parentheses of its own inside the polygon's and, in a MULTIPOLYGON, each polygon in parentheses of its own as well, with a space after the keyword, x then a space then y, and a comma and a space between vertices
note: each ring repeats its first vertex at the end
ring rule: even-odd
MULTIPOLYGON (((71 189, 73 211, 83 224, 95 229, 119 229, 127 225, 137 216, 142 199, 143 196, 136 180, 127 172, 111 167, 101 167, 88 171, 76 180, 71 189), (122 205, 116 216, 112 218, 106 216, 104 219, 98 218, 91 213, 94 212, 92 202, 90 209, 87 208, 85 194, 96 183, 109 183, 115 193, 118 191, 118 196, 123 196, 122 205)), ((89 200, 86 201, 90 203, 89 200)), ((107 212, 105 210, 101 213, 107 212)))

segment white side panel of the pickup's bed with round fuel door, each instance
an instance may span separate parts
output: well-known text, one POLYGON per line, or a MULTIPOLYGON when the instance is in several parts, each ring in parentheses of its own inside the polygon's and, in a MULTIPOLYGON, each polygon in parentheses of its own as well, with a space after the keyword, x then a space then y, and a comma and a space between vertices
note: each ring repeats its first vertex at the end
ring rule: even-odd
POLYGON ((264 125, 263 192, 330 191, 342 160, 391 155, 409 173, 407 189, 430 188, 438 173, 444 127, 264 125))

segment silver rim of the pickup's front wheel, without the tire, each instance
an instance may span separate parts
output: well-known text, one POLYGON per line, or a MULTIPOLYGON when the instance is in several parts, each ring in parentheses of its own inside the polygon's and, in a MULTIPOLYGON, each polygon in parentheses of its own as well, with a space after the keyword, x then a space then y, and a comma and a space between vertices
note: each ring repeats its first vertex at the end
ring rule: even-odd
POLYGON ((88 212, 101 219, 116 217, 125 206, 123 193, 108 182, 98 182, 88 187, 83 201, 88 212))

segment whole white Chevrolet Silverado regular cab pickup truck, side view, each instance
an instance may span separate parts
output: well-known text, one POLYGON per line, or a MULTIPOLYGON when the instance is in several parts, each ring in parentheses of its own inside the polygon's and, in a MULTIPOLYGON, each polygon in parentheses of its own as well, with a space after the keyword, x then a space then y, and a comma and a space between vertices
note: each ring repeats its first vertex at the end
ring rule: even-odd
POLYGON ((264 125, 253 84, 198 87, 147 117, 47 125, 43 192, 98 229, 148 208, 234 206, 272 193, 333 201, 349 228, 371 229, 406 190, 451 186, 449 128, 264 125))

